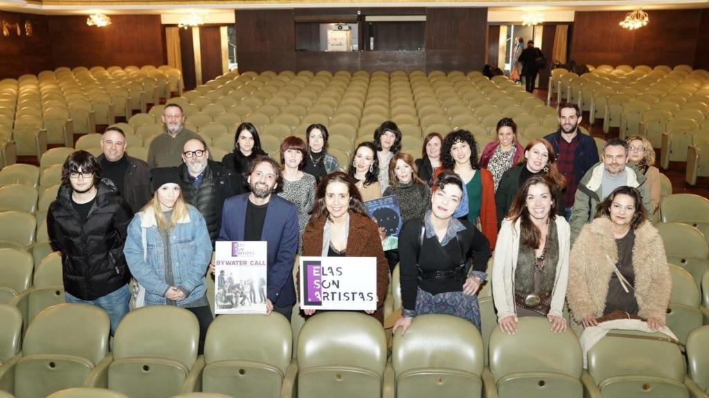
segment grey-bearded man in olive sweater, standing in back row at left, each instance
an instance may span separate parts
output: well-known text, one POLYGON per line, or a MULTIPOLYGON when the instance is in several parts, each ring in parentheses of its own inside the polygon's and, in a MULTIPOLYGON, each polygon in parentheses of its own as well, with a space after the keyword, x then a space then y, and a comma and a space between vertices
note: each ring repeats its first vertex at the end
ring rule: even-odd
POLYGON ((150 169, 179 166, 184 143, 199 138, 196 132, 184 128, 182 107, 177 103, 165 106, 162 110, 162 123, 165 125, 165 134, 155 137, 147 150, 147 165, 150 169))

